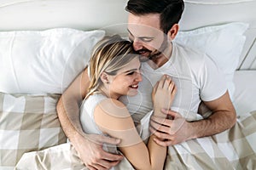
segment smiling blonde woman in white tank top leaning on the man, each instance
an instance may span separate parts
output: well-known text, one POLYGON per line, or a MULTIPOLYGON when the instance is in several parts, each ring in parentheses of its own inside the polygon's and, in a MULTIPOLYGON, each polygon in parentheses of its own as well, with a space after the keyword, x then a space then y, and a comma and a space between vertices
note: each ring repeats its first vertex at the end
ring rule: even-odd
MULTIPOLYGON (((143 143, 129 111, 118 99, 136 95, 142 81, 139 56, 131 42, 119 36, 106 37, 96 44, 90 59, 90 88, 81 107, 80 121, 85 133, 108 134, 121 139, 119 150, 136 169, 162 169, 166 147, 156 144, 152 134, 148 145, 143 143)), ((169 77, 162 77, 154 87, 154 115, 163 116, 160 109, 169 107, 176 88, 169 77), (158 99, 167 95, 167 105, 158 99)))

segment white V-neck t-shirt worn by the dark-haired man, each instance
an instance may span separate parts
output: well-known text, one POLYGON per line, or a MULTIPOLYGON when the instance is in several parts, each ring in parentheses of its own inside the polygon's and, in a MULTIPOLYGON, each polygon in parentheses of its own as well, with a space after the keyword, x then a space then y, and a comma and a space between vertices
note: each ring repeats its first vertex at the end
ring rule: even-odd
POLYGON ((190 121, 197 119, 196 113, 201 100, 218 99, 227 91, 223 73, 207 54, 183 48, 172 42, 172 56, 166 64, 154 70, 147 62, 143 62, 143 82, 139 83, 139 93, 120 99, 127 106, 136 124, 152 111, 152 89, 164 74, 172 77, 177 87, 172 111, 179 112, 190 121))

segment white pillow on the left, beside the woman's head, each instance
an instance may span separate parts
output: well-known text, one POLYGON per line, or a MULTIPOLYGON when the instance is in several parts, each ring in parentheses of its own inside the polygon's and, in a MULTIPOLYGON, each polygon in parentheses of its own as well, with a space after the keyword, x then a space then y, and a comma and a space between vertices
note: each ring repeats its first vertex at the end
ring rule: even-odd
POLYGON ((0 91, 61 94, 104 35, 69 28, 0 32, 0 91))

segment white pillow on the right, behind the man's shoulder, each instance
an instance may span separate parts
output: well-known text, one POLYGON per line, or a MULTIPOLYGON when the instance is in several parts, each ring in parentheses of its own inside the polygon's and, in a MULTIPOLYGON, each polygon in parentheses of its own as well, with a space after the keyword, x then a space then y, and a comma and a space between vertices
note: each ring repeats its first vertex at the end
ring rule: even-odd
POLYGON ((218 67, 224 71, 232 100, 235 92, 233 77, 246 40, 243 33, 247 28, 248 24, 241 22, 207 26, 192 31, 179 31, 175 39, 175 42, 201 50, 212 58, 218 67))

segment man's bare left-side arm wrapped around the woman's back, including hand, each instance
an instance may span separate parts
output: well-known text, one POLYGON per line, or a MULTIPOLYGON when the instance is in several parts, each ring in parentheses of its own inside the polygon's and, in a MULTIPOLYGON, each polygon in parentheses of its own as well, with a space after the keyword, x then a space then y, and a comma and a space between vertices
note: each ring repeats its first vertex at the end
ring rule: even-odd
POLYGON ((108 169, 118 164, 123 157, 102 150, 102 143, 119 144, 119 140, 86 134, 79 121, 79 108, 89 84, 87 69, 85 69, 61 95, 57 104, 57 113, 63 131, 79 152, 84 165, 90 169, 108 169))

